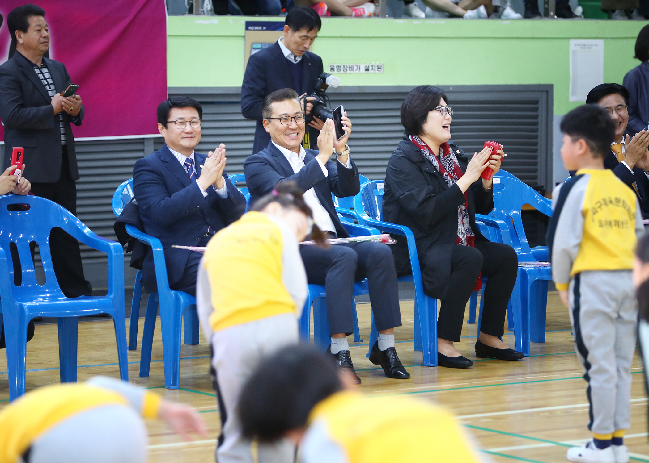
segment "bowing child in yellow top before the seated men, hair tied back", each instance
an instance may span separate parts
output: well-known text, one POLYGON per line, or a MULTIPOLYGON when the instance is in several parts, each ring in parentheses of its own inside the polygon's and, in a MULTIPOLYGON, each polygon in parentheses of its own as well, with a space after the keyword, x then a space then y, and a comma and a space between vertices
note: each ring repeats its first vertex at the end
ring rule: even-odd
MULTIPOLYGON (((241 386, 263 356, 299 341, 307 283, 298 246, 311 215, 293 182, 279 184, 210 239, 199 265, 197 309, 214 352, 221 413, 219 463, 252 463, 236 410, 241 386)), ((323 239, 315 225, 311 239, 323 239)), ((294 455, 288 441, 258 445, 259 463, 291 463, 294 455)))

